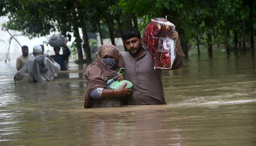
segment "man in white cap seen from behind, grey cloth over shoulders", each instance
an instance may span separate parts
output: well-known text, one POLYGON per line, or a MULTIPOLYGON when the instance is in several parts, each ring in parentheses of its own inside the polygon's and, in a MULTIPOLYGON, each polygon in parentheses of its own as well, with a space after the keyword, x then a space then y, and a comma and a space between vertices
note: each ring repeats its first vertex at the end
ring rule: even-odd
POLYGON ((41 55, 42 47, 36 45, 33 47, 33 55, 35 57, 27 59, 25 65, 14 76, 14 81, 19 81, 27 74, 27 82, 45 82, 51 81, 54 74, 60 71, 60 65, 49 59, 46 55, 41 55))

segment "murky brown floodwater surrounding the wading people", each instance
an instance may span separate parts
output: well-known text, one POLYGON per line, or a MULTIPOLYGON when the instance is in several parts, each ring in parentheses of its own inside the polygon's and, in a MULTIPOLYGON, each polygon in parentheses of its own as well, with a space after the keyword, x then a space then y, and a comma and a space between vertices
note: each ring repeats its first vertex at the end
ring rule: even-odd
POLYGON ((52 82, 29 84, 1 64, 0 145, 256 145, 255 52, 190 54, 163 71, 167 105, 84 109, 85 68, 69 62, 52 82))

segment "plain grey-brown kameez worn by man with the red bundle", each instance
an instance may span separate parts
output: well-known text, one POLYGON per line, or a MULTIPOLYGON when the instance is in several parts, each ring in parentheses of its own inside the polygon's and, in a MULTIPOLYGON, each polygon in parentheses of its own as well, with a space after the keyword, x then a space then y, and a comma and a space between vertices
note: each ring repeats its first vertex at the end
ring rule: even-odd
MULTIPOLYGON (((125 79, 133 83, 134 92, 128 105, 166 104, 163 92, 162 70, 155 69, 150 50, 135 59, 129 52, 122 52, 124 59, 125 79)), ((184 66, 184 56, 177 55, 172 69, 184 66)))

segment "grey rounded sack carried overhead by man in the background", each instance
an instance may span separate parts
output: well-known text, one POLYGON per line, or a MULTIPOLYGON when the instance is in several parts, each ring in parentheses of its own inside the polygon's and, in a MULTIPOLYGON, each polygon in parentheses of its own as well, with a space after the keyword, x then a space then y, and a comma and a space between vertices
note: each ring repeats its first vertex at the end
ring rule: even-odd
POLYGON ((49 43, 52 47, 60 48, 60 47, 63 47, 63 46, 64 46, 63 41, 68 42, 68 39, 65 38, 65 37, 64 37, 63 35, 61 35, 61 34, 53 34, 53 35, 49 38, 48 43, 49 43))

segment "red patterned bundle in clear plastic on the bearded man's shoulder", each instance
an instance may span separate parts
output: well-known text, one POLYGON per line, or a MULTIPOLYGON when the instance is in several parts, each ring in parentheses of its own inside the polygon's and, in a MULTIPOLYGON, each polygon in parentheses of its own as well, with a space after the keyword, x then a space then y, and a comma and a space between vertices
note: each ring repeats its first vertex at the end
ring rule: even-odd
POLYGON ((143 33, 143 44, 150 49, 154 69, 171 69, 176 58, 176 41, 170 38, 174 24, 163 18, 151 19, 143 33))

